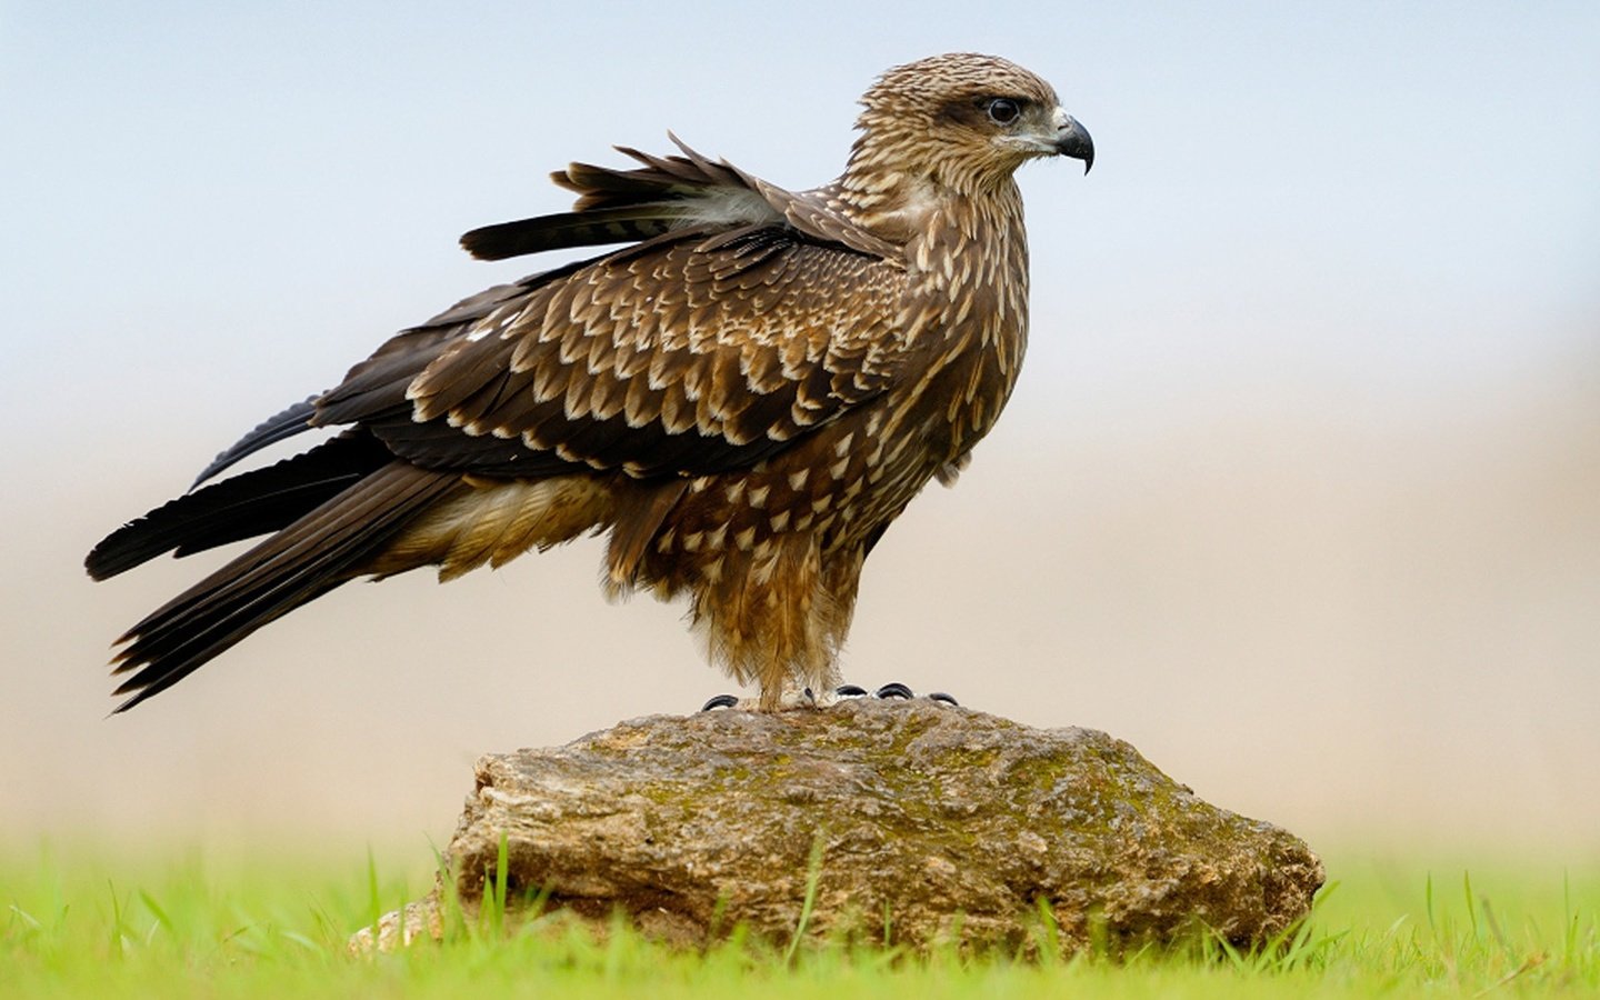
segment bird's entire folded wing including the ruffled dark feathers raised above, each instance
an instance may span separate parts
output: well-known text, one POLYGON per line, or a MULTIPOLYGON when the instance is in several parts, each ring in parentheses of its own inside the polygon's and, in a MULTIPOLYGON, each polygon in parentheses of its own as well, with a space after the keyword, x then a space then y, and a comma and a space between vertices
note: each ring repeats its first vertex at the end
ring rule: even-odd
POLYGON ((638 243, 398 333, 309 419, 286 411, 298 422, 269 421, 240 448, 286 424, 358 424, 426 469, 693 477, 760 462, 902 378, 918 352, 899 333, 899 250, 826 190, 786 192, 677 146, 622 149, 630 170, 574 163, 555 174, 579 195, 571 213, 466 238, 482 256, 638 243))

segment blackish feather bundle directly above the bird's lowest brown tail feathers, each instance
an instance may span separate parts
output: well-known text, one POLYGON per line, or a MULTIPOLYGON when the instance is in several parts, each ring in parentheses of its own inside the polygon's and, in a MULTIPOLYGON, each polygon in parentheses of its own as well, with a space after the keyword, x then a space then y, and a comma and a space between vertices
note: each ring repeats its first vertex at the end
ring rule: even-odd
POLYGON ((83 566, 94 579, 126 573, 157 555, 189 555, 286 528, 390 461, 365 434, 336 437, 275 466, 186 493, 112 531, 83 566))

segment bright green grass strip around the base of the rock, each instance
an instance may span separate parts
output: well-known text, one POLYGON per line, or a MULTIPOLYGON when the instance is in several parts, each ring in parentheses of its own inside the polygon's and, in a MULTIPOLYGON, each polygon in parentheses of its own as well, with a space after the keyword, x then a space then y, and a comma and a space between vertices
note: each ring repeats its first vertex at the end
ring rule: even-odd
POLYGON ((446 942, 352 957, 349 933, 419 898, 430 870, 386 874, 371 858, 338 869, 198 853, 123 861, 42 845, 0 854, 0 997, 1600 995, 1600 867, 1326 861, 1338 882, 1314 918, 1261 954, 1203 942, 1029 965, 738 933, 686 954, 621 926, 595 939, 555 917, 510 925, 496 880, 477 918, 454 910, 446 942))

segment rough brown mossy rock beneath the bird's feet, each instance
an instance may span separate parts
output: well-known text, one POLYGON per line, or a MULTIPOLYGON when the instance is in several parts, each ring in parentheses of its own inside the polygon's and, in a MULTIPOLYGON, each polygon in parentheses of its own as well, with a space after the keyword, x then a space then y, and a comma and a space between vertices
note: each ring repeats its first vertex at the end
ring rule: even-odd
MULTIPOLYGON (((654 715, 483 757, 448 848, 469 915, 502 834, 512 901, 539 891, 598 925, 621 910, 683 944, 736 923, 787 942, 813 875, 806 931, 824 936, 1034 954, 1205 926, 1248 947, 1323 882, 1298 837, 1202 802, 1120 739, 930 701, 654 715)), ((440 888, 379 947, 437 936, 440 888)))

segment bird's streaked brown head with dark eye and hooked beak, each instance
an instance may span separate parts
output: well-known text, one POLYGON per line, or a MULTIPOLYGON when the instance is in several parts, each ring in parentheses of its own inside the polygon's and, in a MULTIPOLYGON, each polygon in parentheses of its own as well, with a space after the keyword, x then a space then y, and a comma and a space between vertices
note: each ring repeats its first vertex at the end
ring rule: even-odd
MULTIPOLYGON (((954 53, 896 66, 862 98, 853 173, 918 174, 966 194, 1006 181, 1037 157, 1094 163, 1090 133, 1056 91, 997 56, 954 53)), ((896 178, 898 179, 898 178, 896 178)))

